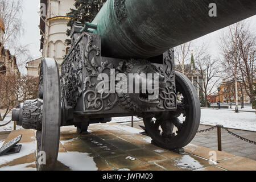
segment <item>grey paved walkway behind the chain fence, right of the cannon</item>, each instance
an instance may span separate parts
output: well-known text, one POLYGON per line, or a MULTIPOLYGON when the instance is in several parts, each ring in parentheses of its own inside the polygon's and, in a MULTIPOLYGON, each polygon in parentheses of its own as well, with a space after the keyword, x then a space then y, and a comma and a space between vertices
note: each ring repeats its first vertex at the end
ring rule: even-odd
MULTIPOLYGON (((143 125, 143 122, 134 122, 134 127, 141 129, 139 125, 143 125)), ((131 126, 131 124, 127 124, 127 126, 131 126)), ((212 126, 200 125, 199 130, 208 129, 209 127, 212 126)), ((256 132, 234 129, 230 129, 230 131, 241 137, 256 141, 256 132)), ((240 140, 223 129, 221 130, 221 139, 222 151, 256 160, 256 145, 240 140)), ((191 143, 218 150, 217 129, 206 133, 197 133, 191 143)))

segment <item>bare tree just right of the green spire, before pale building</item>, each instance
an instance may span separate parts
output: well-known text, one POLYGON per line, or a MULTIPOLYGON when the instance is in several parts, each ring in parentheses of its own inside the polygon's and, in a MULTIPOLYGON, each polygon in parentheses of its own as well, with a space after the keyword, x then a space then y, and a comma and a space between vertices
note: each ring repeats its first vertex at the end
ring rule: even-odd
POLYGON ((220 67, 218 60, 211 59, 210 55, 206 55, 203 59, 197 60, 195 62, 195 71, 193 71, 191 76, 197 74, 201 79, 202 83, 199 80, 196 81, 197 87, 204 94, 205 106, 208 107, 208 96, 216 92, 214 90, 217 83, 220 81, 220 67))

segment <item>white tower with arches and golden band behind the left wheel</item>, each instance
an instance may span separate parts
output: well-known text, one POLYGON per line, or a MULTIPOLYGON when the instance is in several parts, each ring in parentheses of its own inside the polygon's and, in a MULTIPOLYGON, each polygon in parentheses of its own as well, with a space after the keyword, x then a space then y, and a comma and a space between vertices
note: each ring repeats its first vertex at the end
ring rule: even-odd
MULTIPOLYGON (((63 62, 63 57, 67 53, 69 47, 65 44, 67 23, 69 17, 66 16, 70 9, 75 8, 74 0, 40 0, 41 8, 46 7, 46 11, 41 11, 40 17, 40 35, 41 44, 40 51, 42 57, 50 57, 57 61, 60 65, 63 62), (45 13, 45 14, 44 14, 45 13)), ((40 69, 40 61, 38 59, 32 60, 27 64, 27 74, 34 75, 38 73, 35 67, 40 69)))

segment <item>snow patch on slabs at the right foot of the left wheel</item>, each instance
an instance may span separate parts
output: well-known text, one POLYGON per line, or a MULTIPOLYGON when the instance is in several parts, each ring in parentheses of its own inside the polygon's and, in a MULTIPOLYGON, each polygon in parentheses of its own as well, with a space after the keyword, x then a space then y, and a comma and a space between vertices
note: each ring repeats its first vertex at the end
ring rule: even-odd
POLYGON ((97 171, 96 163, 93 157, 90 157, 87 153, 81 152, 64 152, 59 153, 59 162, 68 166, 73 171, 97 171))

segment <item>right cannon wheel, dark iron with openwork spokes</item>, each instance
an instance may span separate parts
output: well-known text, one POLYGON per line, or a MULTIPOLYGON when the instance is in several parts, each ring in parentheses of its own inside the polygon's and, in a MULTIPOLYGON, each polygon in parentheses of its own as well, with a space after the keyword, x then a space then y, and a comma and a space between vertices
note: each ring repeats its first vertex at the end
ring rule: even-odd
POLYGON ((200 102, 195 86, 179 72, 175 72, 175 82, 179 98, 177 111, 156 114, 155 121, 152 118, 143 118, 146 132, 152 142, 168 150, 182 148, 190 143, 200 123, 200 102), (184 121, 180 121, 180 117, 183 117, 184 121))

